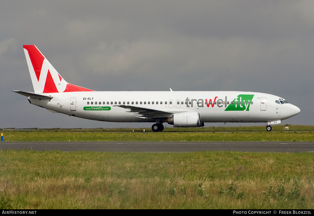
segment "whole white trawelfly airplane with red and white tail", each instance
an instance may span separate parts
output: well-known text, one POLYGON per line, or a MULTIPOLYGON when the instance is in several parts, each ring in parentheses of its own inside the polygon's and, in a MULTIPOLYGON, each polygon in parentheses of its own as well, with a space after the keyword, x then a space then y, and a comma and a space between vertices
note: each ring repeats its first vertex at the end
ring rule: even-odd
POLYGON ((34 92, 14 91, 54 113, 103 122, 203 127, 205 122, 265 122, 266 130, 300 113, 282 97, 242 91, 94 91, 66 82, 35 45, 23 45, 34 92))

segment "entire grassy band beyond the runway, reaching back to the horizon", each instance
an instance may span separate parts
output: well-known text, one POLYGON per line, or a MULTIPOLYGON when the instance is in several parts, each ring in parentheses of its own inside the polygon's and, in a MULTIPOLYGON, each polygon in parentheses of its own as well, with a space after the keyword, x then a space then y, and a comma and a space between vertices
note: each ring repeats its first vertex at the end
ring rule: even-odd
POLYGON ((50 129, 3 131, 4 141, 304 141, 314 140, 314 126, 165 128, 50 129), (83 132, 84 130, 84 132, 83 132), (133 133, 134 130, 134 133, 133 133), (254 132, 254 133, 252 133, 254 132))

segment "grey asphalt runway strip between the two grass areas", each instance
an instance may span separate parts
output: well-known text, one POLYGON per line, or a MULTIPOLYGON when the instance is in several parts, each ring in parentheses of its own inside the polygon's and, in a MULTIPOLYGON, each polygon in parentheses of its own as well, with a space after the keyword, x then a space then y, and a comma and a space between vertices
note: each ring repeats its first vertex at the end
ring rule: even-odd
POLYGON ((1 150, 62 152, 314 152, 314 142, 1 142, 1 150))

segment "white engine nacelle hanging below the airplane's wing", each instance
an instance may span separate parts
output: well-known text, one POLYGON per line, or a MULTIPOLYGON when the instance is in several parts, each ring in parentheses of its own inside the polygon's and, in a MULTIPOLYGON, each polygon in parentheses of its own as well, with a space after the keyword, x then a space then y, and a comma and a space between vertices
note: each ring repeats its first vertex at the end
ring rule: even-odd
POLYGON ((167 119, 168 124, 173 127, 203 127, 204 122, 200 122, 198 112, 181 112, 173 114, 167 119))

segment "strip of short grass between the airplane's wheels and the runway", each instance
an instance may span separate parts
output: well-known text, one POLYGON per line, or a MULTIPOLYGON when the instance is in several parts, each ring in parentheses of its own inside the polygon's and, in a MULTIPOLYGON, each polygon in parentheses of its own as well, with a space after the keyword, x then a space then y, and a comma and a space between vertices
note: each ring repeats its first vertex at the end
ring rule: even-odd
MULTIPOLYGON (((146 131, 146 130, 145 130, 146 131)), ((4 132, 4 141, 304 141, 314 140, 307 132, 4 132)))

